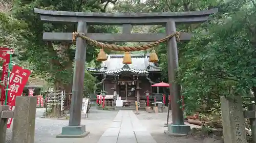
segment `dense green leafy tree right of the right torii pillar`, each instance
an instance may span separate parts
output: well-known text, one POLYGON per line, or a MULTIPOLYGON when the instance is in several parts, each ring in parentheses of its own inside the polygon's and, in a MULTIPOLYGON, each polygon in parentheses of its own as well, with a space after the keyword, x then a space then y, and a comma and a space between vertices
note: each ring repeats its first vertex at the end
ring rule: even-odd
POLYGON ((208 24, 208 34, 196 34, 184 48, 178 79, 190 111, 202 103, 220 106, 219 96, 246 96, 255 87, 255 10, 208 24))

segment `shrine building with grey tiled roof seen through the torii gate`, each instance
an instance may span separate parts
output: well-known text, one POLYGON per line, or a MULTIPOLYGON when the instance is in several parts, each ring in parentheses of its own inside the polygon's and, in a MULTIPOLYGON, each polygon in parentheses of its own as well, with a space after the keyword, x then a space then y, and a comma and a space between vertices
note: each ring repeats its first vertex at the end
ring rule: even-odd
POLYGON ((150 103, 154 102, 155 95, 163 93, 162 88, 151 87, 161 81, 159 65, 148 62, 150 54, 131 54, 132 63, 129 65, 122 63, 123 56, 109 54, 108 60, 103 61, 100 68, 87 69, 97 77, 97 96, 100 96, 100 91, 105 91, 105 106, 113 106, 116 91, 119 100, 130 101, 131 106, 135 106, 135 101, 140 102, 140 106, 146 106, 144 92, 149 91, 150 103))

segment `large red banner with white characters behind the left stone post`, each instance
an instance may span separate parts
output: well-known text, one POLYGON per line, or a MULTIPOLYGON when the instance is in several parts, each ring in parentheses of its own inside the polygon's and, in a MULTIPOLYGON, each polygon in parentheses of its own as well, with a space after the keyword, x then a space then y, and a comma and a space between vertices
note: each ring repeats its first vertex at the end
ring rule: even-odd
POLYGON ((8 91, 8 105, 15 106, 15 97, 23 93, 23 89, 29 79, 31 71, 14 65, 10 76, 8 91))

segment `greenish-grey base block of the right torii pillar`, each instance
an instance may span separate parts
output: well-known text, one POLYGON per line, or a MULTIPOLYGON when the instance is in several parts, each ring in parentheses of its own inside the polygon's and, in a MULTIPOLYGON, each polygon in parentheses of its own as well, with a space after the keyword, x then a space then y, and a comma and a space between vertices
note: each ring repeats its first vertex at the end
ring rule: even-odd
POLYGON ((190 126, 188 125, 174 125, 174 124, 169 124, 168 125, 168 132, 173 133, 173 134, 187 134, 190 131, 190 126))

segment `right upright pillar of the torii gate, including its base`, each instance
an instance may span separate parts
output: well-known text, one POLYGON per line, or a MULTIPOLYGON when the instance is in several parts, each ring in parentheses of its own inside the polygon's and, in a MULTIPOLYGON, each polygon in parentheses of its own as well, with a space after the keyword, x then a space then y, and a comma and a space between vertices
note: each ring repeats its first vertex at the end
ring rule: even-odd
MULTIPOLYGON (((176 32, 175 21, 168 21, 166 23, 166 35, 174 34, 176 32)), ((187 133, 190 126, 184 125, 184 117, 181 105, 181 90, 180 85, 175 83, 176 70, 178 69, 178 49, 176 37, 172 37, 167 41, 167 64, 168 64, 168 80, 170 84, 172 119, 173 123, 168 125, 170 133, 187 133)))

